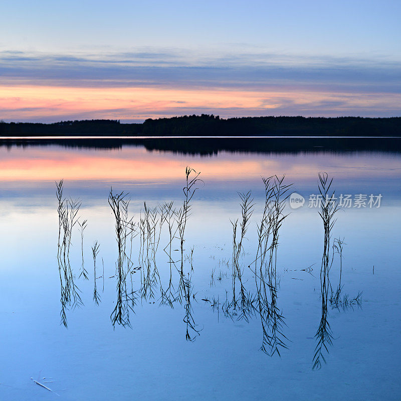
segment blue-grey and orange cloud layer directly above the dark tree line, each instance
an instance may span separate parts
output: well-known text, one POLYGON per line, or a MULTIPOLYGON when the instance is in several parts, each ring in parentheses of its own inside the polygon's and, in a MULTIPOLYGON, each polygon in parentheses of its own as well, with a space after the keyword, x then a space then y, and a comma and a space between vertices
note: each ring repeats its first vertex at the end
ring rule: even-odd
POLYGON ((399 64, 384 57, 0 51, 0 76, 5 120, 401 114, 399 64))

